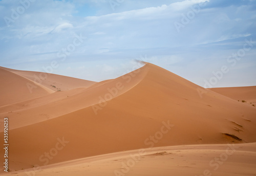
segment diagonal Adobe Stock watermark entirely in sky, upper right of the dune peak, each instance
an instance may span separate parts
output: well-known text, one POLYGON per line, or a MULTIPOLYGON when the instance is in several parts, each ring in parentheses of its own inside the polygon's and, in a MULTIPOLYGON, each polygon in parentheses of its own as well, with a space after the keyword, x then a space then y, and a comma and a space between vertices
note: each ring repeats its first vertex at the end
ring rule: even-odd
POLYGON ((204 3, 191 6, 191 10, 189 10, 186 14, 181 14, 180 22, 174 21, 174 26, 178 33, 180 33, 180 28, 184 28, 186 25, 190 23, 191 20, 193 20, 196 17, 197 14, 200 13, 201 8, 205 7, 207 2, 209 2, 209 0, 205 1, 204 3))

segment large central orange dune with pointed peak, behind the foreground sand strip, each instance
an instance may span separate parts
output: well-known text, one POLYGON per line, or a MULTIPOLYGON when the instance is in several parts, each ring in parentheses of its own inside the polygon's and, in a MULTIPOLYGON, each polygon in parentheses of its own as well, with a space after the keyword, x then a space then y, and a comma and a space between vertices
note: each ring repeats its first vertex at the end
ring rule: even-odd
POLYGON ((22 106, 1 109, 10 119, 11 170, 138 148, 256 142, 255 107, 150 63, 22 106))

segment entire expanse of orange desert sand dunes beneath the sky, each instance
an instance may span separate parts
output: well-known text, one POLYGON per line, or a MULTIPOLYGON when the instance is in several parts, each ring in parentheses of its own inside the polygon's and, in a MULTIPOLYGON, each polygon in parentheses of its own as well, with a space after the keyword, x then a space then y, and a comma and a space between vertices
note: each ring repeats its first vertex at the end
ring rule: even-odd
POLYGON ((151 63, 101 82, 50 74, 32 93, 26 83, 35 82, 33 72, 0 71, 0 120, 9 118, 11 170, 1 173, 26 175, 23 169, 43 168, 36 175, 115 175, 137 152, 132 150, 150 147, 119 175, 203 175, 205 169, 256 175, 256 107, 231 94, 206 90, 151 63), (209 161, 228 144, 237 151, 214 170, 209 161))

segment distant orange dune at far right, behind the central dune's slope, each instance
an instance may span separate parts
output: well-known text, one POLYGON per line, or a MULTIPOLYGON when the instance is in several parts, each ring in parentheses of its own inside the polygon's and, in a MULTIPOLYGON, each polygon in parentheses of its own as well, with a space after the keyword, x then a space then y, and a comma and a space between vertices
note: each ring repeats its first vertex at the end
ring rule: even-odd
POLYGON ((212 88, 211 91, 230 97, 234 100, 245 100, 256 103, 256 86, 246 87, 220 87, 212 88))

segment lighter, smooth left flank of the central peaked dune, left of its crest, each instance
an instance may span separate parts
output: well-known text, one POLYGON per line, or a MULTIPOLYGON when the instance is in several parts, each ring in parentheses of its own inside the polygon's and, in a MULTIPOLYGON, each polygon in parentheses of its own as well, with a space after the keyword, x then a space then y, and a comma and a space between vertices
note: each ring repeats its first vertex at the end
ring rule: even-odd
POLYGON ((51 95, 2 106, 0 113, 2 117, 8 116, 13 119, 10 129, 14 129, 66 115, 86 107, 91 109, 91 106, 98 104, 99 101, 112 99, 132 89, 143 79, 146 68, 144 70, 131 80, 129 75, 132 73, 124 75, 123 78, 95 83, 87 88, 57 91, 51 95), (126 79, 129 79, 129 82, 126 82, 126 79), (116 92, 115 89, 118 91, 116 92))

